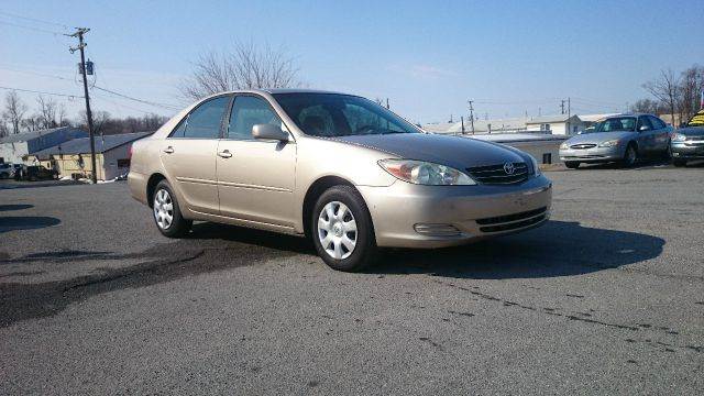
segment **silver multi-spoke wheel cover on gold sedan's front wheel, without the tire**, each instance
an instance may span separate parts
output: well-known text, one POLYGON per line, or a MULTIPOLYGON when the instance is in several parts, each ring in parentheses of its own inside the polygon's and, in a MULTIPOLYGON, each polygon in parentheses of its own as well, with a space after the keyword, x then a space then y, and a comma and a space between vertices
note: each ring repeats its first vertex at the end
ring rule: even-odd
POLYGON ((332 258, 349 257, 358 241, 356 221, 350 208, 340 201, 328 202, 318 216, 318 239, 332 258))

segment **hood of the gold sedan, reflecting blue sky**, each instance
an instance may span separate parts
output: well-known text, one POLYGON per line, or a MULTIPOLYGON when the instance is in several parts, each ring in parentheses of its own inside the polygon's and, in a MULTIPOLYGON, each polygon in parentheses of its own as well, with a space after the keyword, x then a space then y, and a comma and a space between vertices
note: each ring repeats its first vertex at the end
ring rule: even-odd
POLYGON ((505 146, 474 139, 427 133, 394 133, 384 135, 351 135, 333 140, 374 148, 406 160, 427 161, 466 167, 498 165, 529 160, 505 146))

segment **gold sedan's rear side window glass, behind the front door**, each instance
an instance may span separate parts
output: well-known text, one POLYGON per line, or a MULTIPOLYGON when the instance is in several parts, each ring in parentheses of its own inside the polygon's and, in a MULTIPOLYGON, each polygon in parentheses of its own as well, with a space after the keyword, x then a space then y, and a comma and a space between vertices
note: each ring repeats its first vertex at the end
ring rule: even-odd
POLYGON ((172 138, 218 139, 222 114, 230 102, 230 97, 210 99, 191 111, 172 133, 172 138))

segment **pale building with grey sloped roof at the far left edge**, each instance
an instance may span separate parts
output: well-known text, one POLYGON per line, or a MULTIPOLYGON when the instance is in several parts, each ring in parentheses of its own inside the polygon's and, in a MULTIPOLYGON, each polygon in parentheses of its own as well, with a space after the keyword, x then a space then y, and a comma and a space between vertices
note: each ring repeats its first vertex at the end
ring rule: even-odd
POLYGON ((88 133, 79 129, 62 127, 0 138, 0 163, 20 164, 22 163, 22 157, 28 154, 36 153, 72 139, 85 136, 88 136, 88 133))

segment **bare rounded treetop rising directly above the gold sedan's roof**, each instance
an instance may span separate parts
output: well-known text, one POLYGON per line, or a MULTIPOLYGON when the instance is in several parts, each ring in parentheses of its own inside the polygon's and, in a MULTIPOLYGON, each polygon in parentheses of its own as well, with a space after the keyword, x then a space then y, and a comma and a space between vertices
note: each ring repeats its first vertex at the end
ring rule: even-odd
POLYGON ((237 42, 230 52, 200 55, 179 89, 195 100, 224 90, 298 87, 297 77, 296 63, 283 47, 237 42))

